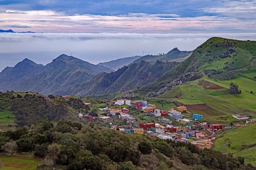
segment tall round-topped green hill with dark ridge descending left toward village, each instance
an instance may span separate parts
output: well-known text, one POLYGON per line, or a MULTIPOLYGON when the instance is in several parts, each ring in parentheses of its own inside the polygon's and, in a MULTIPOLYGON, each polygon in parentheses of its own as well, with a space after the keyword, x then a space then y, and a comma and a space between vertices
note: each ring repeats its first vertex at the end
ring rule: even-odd
POLYGON ((256 41, 210 38, 198 46, 186 60, 136 92, 141 95, 159 92, 167 84, 189 72, 198 74, 194 79, 201 78, 203 74, 218 80, 241 76, 253 79, 254 74, 251 71, 255 72, 255 46, 256 41))

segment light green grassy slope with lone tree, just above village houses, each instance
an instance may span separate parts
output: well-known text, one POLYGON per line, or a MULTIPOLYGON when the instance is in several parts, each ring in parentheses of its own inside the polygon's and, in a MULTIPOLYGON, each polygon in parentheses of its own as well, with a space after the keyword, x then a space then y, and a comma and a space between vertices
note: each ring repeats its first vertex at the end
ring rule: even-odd
MULTIPOLYGON (((207 77, 202 78, 201 80, 207 80, 209 82, 218 84, 222 87, 228 88, 230 81, 215 81, 207 77)), ((206 90, 202 86, 198 85, 199 80, 193 82, 187 82, 184 85, 176 87, 180 89, 182 96, 177 100, 178 102, 184 105, 195 105, 195 104, 207 104, 212 109, 210 110, 190 110, 193 113, 199 113, 204 115, 205 120, 209 120, 212 123, 222 123, 229 124, 229 122, 237 122, 237 119, 232 118, 232 114, 249 114, 253 117, 256 117, 256 93, 250 93, 250 90, 256 91, 256 82, 246 79, 238 78, 232 80, 239 84, 242 89, 242 94, 232 95, 229 94, 228 89, 216 89, 216 90, 206 90), (225 117, 222 119, 220 117, 225 117)), ((158 98, 173 98, 172 92, 170 90, 158 98)), ((169 99, 170 99, 169 98, 169 99)))

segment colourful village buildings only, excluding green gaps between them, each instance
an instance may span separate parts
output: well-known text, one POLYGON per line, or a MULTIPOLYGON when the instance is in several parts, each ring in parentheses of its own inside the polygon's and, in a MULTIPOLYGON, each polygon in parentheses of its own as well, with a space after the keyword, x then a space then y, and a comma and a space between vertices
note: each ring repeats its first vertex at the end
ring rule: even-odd
MULTIPOLYGON (((144 111, 146 115, 158 117, 158 123, 140 123, 136 125, 136 118, 130 114, 130 109, 128 108, 101 108, 100 110, 108 110, 109 116, 98 116, 98 120, 104 123, 110 123, 111 128, 125 133, 146 134, 161 139, 175 140, 177 142, 191 142, 200 148, 211 148, 216 131, 223 130, 222 125, 199 122, 203 120, 203 115, 201 114, 193 114, 192 118, 183 116, 183 114, 187 112, 185 106, 172 108, 165 112, 164 110, 156 109, 156 105, 147 104, 147 101, 132 102, 130 100, 117 100, 111 102, 118 106, 127 105, 129 108, 144 111), (125 126, 112 125, 113 117, 125 120, 127 123, 126 128, 125 126), (181 126, 173 125, 172 120, 168 119, 168 117, 172 117, 177 122, 180 122, 181 126)), ((95 118, 93 116, 83 117, 88 120, 95 118)), ((233 117, 240 120, 251 118, 246 115, 233 115, 233 117)))

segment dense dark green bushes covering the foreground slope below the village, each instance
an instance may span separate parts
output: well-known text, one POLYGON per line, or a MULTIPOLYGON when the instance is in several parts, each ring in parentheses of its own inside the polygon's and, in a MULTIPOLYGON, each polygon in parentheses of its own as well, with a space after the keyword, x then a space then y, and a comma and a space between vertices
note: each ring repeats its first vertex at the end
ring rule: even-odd
POLYGON ((1 152, 33 153, 41 157, 37 169, 256 169, 244 158, 201 150, 193 144, 125 134, 92 123, 60 120, 0 133, 1 152), (181 167, 179 167, 181 166, 181 167))

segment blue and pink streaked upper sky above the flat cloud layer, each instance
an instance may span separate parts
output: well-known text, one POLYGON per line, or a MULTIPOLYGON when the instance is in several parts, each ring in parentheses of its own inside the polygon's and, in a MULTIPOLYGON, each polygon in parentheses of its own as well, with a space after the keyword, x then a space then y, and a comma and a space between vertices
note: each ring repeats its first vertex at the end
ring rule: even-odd
POLYGON ((0 29, 83 33, 251 33, 256 0, 0 0, 0 29))

